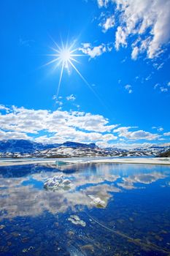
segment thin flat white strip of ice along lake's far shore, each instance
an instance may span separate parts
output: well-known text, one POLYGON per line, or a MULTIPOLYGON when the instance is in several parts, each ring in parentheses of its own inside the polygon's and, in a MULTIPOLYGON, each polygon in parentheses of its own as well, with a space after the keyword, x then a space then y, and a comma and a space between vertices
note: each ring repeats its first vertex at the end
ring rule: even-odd
MULTIPOLYGON (((34 164, 55 164, 56 162, 63 162, 66 164, 90 164, 90 163, 103 163, 103 164, 138 164, 138 165, 170 165, 170 157, 154 157, 154 158, 113 158, 113 159, 9 159, 1 160, 0 166, 13 166, 13 165, 34 165, 34 164)), ((58 165, 56 164, 56 167, 58 165)))

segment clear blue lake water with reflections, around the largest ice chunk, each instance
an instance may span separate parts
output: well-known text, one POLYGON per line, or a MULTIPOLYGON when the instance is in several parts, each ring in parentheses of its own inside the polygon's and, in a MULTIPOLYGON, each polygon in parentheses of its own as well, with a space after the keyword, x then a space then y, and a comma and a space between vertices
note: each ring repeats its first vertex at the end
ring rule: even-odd
POLYGON ((0 167, 0 255, 170 255, 170 167, 0 167))

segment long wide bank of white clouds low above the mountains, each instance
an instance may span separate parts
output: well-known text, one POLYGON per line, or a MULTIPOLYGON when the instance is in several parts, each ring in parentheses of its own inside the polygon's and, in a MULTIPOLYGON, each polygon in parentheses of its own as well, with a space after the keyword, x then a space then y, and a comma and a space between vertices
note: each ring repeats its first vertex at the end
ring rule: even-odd
MULTIPOLYGON (((160 135, 145 132, 138 127, 118 127, 109 124, 101 115, 80 111, 34 110, 27 108, 0 110, 0 140, 34 139, 42 143, 63 143, 72 140, 82 143, 95 142, 98 146, 114 146, 113 140, 128 143, 131 140, 156 140, 160 135), (118 128, 116 128, 118 127, 118 128), (43 135, 42 135, 43 132, 43 135)), ((163 128, 158 127, 160 131, 163 128)), ((166 135, 166 134, 164 134, 166 135)))

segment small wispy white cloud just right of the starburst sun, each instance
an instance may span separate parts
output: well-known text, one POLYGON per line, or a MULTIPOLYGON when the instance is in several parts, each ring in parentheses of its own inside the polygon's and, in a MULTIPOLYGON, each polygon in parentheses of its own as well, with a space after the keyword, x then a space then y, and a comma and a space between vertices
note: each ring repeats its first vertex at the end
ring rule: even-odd
POLYGON ((82 43, 82 48, 79 50, 82 51, 82 53, 87 54, 90 56, 90 59, 96 58, 97 56, 100 56, 103 53, 106 53, 108 51, 112 50, 112 46, 110 44, 101 44, 98 46, 92 46, 90 43, 85 42, 82 43))

